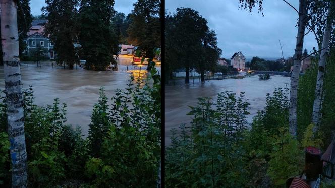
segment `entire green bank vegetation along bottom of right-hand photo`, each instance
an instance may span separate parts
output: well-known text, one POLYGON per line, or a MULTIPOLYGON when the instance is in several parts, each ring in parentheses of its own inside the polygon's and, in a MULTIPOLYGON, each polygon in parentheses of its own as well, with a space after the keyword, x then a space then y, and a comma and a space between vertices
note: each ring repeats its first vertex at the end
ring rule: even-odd
MULTIPOLYGON (((317 59, 299 78, 296 138, 289 133, 289 88, 267 94, 266 106, 253 117, 250 129, 245 120, 250 108, 247 94, 225 91, 216 101, 200 97, 186 114, 192 121, 181 124, 178 135, 171 130, 171 145, 165 147, 166 187, 283 187, 288 178, 299 176, 305 148, 325 151, 333 138, 334 59, 330 55, 326 65, 323 113, 315 134, 311 114, 317 59)), ((335 186, 331 181, 321 184, 335 186)))

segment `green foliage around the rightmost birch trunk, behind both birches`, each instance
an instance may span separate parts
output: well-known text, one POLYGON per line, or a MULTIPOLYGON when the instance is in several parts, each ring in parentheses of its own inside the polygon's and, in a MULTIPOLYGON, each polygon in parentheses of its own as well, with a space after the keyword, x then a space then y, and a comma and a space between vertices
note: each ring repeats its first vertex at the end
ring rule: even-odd
MULTIPOLYGON (((335 55, 334 51, 330 51, 329 57, 326 62, 325 80, 323 85, 323 99, 322 99, 322 110, 321 110, 321 124, 320 129, 325 133, 324 143, 331 141, 331 132, 327 130, 335 129, 335 101, 333 95, 335 91, 335 85, 333 81, 335 79, 335 55)), ((299 90, 298 90, 298 130, 305 130, 311 122, 311 115, 313 111, 314 93, 316 86, 317 77, 317 64, 318 59, 312 58, 312 64, 306 73, 300 77, 299 90)), ((302 134, 298 137, 301 138, 302 134)), ((326 146, 325 146, 326 147, 326 146)))

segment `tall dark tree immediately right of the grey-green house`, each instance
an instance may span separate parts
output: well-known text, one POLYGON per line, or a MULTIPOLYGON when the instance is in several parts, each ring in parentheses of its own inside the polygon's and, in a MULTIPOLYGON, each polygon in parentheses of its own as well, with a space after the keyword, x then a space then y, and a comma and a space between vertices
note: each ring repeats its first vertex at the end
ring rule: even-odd
POLYGON ((46 0, 42 8, 48 20, 44 33, 54 43, 53 49, 57 51, 57 64, 65 62, 73 69, 79 62, 74 44, 77 43, 76 17, 79 0, 46 0))

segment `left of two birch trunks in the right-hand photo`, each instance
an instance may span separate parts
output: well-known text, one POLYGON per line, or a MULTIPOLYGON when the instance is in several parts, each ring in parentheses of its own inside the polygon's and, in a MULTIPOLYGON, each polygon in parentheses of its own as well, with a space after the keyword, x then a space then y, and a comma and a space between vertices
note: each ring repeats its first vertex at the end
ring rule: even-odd
POLYGON ((299 19, 297 43, 294 52, 293 71, 291 75, 290 88, 290 108, 289 108, 289 131, 292 136, 297 136, 297 96, 298 96, 298 81, 301 65, 302 48, 304 43, 305 28, 308 22, 307 17, 307 1, 299 1, 299 19))

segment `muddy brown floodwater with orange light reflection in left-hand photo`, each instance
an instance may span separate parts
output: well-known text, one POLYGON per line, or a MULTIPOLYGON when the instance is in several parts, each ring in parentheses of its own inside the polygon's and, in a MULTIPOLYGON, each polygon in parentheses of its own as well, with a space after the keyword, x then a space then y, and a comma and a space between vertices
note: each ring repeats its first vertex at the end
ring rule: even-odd
MULTIPOLYGON (((80 126, 83 135, 88 134, 88 125, 92 114, 93 105, 99 98, 99 88, 103 86, 107 98, 115 94, 116 89, 124 89, 129 83, 128 79, 133 74, 139 76, 139 67, 131 65, 130 57, 119 59, 118 71, 87 71, 80 67, 74 70, 55 67, 52 69, 41 63, 41 68, 36 64, 21 64, 23 88, 33 86, 35 104, 45 106, 52 104, 54 98, 59 98, 60 103, 67 103, 67 123, 73 127, 80 126), (127 71, 127 65, 128 71, 127 71)), ((44 63, 45 64, 45 63, 44 63)), ((141 77, 146 77, 146 65, 142 67, 141 77)), ((160 66, 157 67, 160 72, 160 66)), ((4 67, 0 67, 0 90, 5 89, 4 67)))

